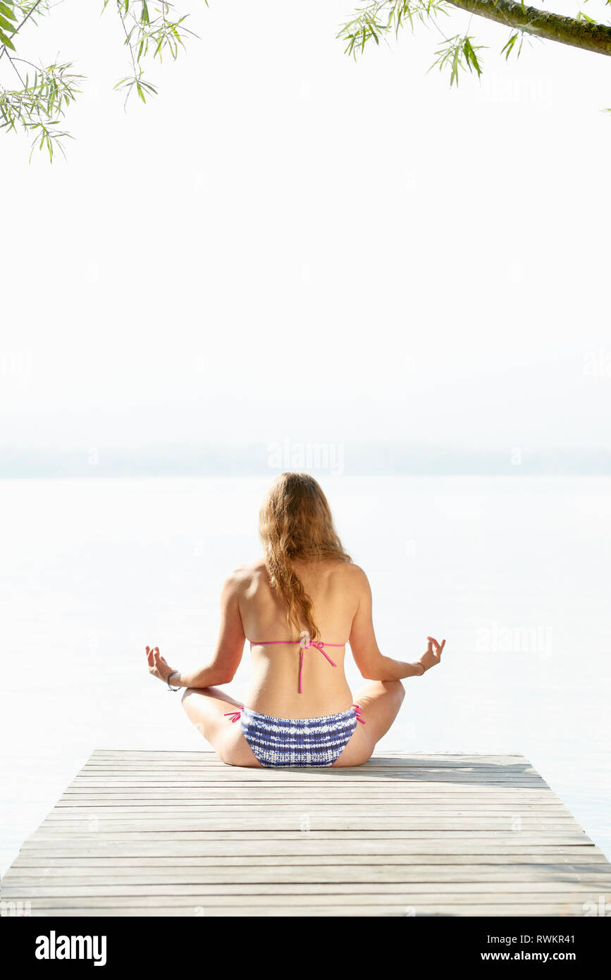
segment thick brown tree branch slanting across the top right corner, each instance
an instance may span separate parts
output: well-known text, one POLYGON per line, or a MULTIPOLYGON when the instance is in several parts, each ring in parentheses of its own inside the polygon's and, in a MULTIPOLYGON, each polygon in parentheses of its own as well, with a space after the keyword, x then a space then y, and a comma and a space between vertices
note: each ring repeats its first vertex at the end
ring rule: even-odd
POLYGON ((522 6, 514 0, 447 0, 453 7, 560 44, 611 55, 611 26, 522 6))

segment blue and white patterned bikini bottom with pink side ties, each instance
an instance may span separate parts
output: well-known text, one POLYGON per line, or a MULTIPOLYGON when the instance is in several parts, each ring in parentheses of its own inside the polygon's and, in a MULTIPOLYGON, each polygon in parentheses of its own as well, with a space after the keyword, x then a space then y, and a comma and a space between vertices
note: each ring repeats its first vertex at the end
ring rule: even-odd
POLYGON ((250 708, 235 713, 254 755, 266 766, 332 765, 348 745, 356 722, 364 724, 358 705, 321 718, 273 718, 250 708))

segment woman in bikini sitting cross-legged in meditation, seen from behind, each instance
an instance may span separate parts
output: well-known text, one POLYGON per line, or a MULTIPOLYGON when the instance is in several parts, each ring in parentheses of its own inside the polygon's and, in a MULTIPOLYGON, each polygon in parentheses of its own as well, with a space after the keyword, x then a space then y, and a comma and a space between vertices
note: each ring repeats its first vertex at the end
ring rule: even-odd
POLYGON ((344 551, 326 497, 306 473, 273 482, 259 534, 264 557, 223 584, 211 662, 181 673, 159 647, 147 647, 149 671, 172 690, 186 688, 185 711, 229 765, 360 765, 397 716, 401 678, 439 663, 446 640, 427 637, 411 663, 380 653, 367 576, 344 551), (241 705, 217 685, 233 678, 246 640, 253 675, 241 705), (368 681, 354 701, 344 674, 348 642, 368 681))

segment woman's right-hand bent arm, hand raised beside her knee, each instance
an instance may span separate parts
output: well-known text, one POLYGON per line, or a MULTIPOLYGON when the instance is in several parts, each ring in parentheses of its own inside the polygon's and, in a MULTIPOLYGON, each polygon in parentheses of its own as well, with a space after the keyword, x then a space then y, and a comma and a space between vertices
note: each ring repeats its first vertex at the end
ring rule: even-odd
POLYGON ((371 587, 362 568, 353 566, 356 571, 358 590, 358 609, 352 619, 350 645, 352 657, 365 680, 402 680, 405 677, 421 676, 425 670, 440 662, 446 640, 438 643, 432 636, 427 637, 427 648, 418 661, 395 661, 384 657, 378 647, 373 629, 371 587))

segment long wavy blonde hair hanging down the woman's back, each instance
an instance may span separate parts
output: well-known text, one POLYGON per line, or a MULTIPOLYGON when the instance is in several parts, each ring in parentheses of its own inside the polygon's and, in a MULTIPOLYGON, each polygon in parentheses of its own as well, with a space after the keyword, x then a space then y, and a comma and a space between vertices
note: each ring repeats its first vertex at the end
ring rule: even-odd
POLYGON ((293 562, 352 559, 342 547, 327 498, 313 476, 289 472, 273 481, 258 515, 258 533, 269 581, 286 606, 289 629, 305 628, 311 640, 321 639, 311 599, 293 562))

